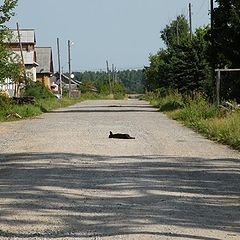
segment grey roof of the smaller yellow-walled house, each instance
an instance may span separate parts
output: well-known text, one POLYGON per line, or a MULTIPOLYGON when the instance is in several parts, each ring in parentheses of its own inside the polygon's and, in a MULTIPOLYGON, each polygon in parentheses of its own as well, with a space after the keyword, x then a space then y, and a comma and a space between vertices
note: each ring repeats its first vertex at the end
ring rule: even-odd
POLYGON ((51 47, 35 48, 37 57, 37 73, 53 73, 53 60, 51 47))

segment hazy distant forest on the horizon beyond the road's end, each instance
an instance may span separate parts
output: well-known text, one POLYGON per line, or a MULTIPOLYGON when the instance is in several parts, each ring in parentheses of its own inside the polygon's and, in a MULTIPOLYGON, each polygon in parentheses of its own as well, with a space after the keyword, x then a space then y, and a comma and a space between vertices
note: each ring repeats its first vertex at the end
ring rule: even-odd
POLYGON ((143 70, 123 70, 116 72, 104 72, 104 71, 85 71, 74 72, 75 78, 81 81, 83 84, 86 82, 92 82, 98 85, 101 83, 108 83, 114 81, 120 83, 125 88, 126 93, 143 93, 144 92, 144 74, 143 70))

